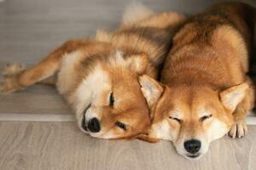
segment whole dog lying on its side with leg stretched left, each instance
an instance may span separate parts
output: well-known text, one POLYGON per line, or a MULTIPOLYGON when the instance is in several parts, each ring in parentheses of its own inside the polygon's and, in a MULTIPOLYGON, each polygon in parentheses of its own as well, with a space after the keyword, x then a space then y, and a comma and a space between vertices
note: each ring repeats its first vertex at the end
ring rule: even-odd
POLYGON ((135 137, 150 126, 138 76, 157 77, 173 32, 184 20, 177 13, 128 8, 118 31, 98 31, 94 39, 65 42, 26 70, 7 66, 1 91, 53 82, 84 133, 102 139, 135 137))

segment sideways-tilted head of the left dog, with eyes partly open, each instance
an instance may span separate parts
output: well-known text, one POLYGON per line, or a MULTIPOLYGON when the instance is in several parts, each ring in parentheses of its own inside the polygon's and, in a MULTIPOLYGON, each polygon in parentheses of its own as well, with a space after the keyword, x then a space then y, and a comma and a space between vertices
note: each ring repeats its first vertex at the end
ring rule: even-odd
POLYGON ((84 61, 90 71, 70 99, 79 127, 96 138, 135 137, 150 126, 147 101, 138 82, 138 75, 148 68, 148 57, 115 50, 103 55, 98 59, 94 54, 94 65, 84 61))

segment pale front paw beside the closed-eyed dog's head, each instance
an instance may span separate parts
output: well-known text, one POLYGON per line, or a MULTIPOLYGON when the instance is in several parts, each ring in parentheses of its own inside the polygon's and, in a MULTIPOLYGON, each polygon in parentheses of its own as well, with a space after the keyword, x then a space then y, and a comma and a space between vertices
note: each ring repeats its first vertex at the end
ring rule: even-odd
POLYGON ((247 135, 247 125, 245 121, 235 122, 230 128, 229 136, 232 139, 242 138, 247 135))

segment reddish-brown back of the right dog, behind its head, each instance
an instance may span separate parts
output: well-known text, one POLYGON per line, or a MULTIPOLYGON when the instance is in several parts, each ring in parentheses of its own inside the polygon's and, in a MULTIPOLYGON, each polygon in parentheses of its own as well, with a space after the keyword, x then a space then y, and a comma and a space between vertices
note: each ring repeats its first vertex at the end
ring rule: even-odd
POLYGON ((173 38, 162 81, 207 79, 222 88, 243 82, 252 49, 253 13, 254 8, 245 3, 220 3, 196 14, 173 38), (190 71, 181 71, 186 67, 190 71), (198 75, 196 70, 206 74, 198 75))

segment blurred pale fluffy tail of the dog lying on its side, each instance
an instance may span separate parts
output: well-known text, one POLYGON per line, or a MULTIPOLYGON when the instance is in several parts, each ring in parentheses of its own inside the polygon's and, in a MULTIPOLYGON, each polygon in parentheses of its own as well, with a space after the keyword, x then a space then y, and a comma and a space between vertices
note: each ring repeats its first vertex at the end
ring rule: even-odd
POLYGON ((154 14, 153 10, 145 7, 143 3, 133 2, 125 8, 121 25, 135 25, 152 14, 154 14))

